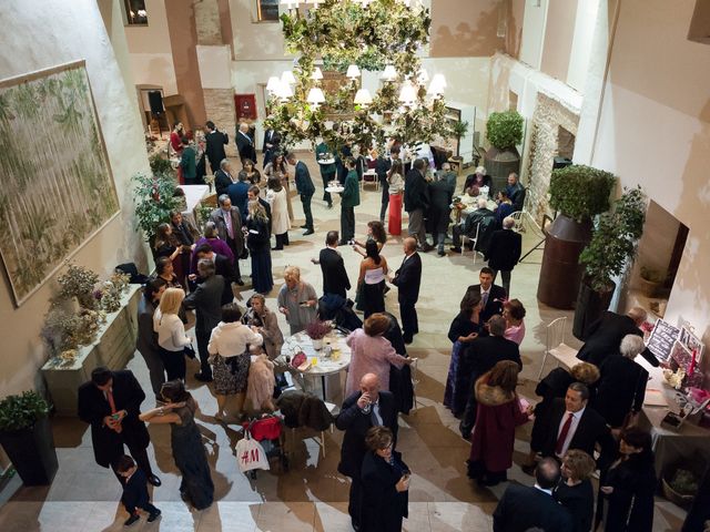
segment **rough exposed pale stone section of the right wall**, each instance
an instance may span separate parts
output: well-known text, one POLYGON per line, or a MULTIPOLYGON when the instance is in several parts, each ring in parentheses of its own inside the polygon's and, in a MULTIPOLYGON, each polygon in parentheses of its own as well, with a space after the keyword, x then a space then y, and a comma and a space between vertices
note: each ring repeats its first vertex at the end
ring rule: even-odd
POLYGON ((532 217, 542 225, 545 214, 554 213, 548 204, 547 192, 550 186, 552 158, 558 155, 558 133, 561 125, 572 135, 577 135, 579 114, 566 108, 560 101, 538 92, 532 125, 530 145, 527 152, 528 194, 526 208, 532 217))

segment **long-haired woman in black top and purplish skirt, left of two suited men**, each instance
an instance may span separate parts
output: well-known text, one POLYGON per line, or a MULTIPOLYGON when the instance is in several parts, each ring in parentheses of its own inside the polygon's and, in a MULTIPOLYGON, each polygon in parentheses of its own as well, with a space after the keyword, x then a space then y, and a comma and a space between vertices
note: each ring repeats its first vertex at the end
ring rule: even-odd
POLYGON ((457 393, 456 382, 458 379, 459 357, 462 351, 484 331, 484 323, 480 319, 483 309, 480 293, 471 293, 466 299, 462 311, 454 318, 448 329, 448 339, 452 340, 452 360, 448 365, 448 376, 446 377, 446 389, 444 390, 444 406, 460 416, 466 407, 468 397, 457 393))

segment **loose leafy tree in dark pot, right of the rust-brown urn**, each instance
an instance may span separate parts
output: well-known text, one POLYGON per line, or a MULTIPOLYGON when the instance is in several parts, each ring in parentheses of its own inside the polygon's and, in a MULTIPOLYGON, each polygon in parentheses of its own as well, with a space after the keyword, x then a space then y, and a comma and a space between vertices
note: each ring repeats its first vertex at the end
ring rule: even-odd
POLYGON ((613 277, 636 258, 645 219, 646 196, 640 186, 625 188, 613 208, 599 216, 591 241, 579 256, 584 275, 572 327, 577 338, 585 339, 589 325, 609 308, 616 288, 613 277))

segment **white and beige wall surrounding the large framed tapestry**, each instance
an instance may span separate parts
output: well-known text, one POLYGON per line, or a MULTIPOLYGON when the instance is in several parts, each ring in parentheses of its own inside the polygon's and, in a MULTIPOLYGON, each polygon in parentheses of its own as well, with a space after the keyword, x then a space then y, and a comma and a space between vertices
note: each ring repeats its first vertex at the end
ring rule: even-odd
MULTIPOLYGON (((115 6, 119 3, 114 2, 115 6)), ((114 18, 120 14, 115 9, 112 13, 114 18)), ((143 243, 134 231, 129 188, 131 175, 149 170, 143 129, 133 92, 126 92, 130 80, 126 78, 124 81, 123 75, 128 76, 128 73, 122 73, 116 63, 97 1, 2 2, 0 25, 13 29, 11 33, 6 32, 0 50, 0 72, 3 78, 78 59, 87 61, 109 163, 119 192, 121 214, 83 246, 73 259, 103 276, 116 264, 144 260, 143 243)), ((113 23, 111 25, 113 28, 113 23)), ((115 39, 113 45, 121 57, 121 63, 126 64, 128 50, 120 49, 121 40, 115 39)), ((47 356, 38 335, 53 285, 53 280, 44 284, 20 308, 14 308, 7 283, 0 288, 0 337, 3 342, 0 397, 41 386, 38 369, 47 356)))

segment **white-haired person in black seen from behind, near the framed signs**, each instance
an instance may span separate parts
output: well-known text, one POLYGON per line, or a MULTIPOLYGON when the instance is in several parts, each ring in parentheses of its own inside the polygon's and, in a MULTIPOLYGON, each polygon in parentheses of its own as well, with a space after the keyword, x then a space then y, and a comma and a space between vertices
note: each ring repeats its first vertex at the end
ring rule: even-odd
POLYGON ((633 361, 643 349, 643 338, 626 335, 619 347, 621 356, 611 355, 599 367, 592 407, 612 429, 623 426, 627 416, 638 415, 643 406, 648 371, 633 361))

